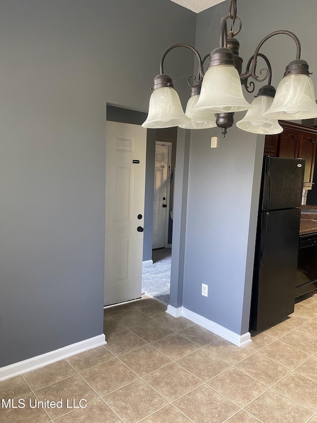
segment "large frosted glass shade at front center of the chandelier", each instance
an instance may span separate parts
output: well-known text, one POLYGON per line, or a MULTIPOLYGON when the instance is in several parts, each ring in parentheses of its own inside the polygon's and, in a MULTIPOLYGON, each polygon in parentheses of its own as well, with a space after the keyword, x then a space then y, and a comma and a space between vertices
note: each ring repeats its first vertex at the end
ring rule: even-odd
POLYGON ((204 75, 202 90, 194 112, 231 113, 248 110, 239 72, 234 66, 211 66, 204 75))

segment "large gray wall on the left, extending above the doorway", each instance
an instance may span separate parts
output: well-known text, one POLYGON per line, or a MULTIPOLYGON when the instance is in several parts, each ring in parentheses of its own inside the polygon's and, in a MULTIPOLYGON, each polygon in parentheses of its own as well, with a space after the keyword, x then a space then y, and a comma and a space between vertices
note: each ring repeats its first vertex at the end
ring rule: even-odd
MULTIPOLYGON (((163 50, 195 42, 160 5, 1 1, 0 366, 103 331, 106 103, 145 112, 163 50)), ((166 58, 182 99, 192 64, 166 58)))

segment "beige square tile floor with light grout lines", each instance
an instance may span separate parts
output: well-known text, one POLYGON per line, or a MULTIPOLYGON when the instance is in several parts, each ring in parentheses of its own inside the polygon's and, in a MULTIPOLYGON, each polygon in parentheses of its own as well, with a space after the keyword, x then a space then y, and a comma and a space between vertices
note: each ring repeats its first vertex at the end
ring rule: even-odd
POLYGON ((165 309, 146 296, 106 307, 106 346, 0 382, 25 400, 0 422, 317 423, 317 292, 243 348, 165 309))

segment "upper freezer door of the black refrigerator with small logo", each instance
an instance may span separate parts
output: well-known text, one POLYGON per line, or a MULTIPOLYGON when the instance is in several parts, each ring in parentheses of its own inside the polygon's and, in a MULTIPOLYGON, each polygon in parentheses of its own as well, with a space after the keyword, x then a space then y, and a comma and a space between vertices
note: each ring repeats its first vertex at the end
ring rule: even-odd
POLYGON ((304 159, 264 156, 262 210, 300 207, 304 170, 304 159))

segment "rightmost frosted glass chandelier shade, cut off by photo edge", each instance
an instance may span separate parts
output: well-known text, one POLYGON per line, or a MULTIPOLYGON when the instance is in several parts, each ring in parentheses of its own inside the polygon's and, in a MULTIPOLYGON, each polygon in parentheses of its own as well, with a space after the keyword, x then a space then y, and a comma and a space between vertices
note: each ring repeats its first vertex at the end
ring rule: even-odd
POLYGON ((287 75, 278 84, 265 118, 298 120, 317 118, 314 85, 308 75, 287 75))

